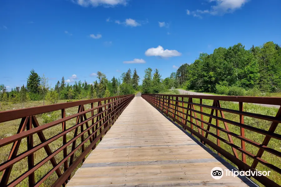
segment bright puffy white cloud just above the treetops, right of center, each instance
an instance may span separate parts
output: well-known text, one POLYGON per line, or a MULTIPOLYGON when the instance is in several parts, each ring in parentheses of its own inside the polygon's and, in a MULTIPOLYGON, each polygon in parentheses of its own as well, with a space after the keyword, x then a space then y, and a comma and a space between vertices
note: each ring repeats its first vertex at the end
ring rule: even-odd
POLYGON ((162 47, 158 46, 156 48, 149 48, 145 51, 146 56, 160 56, 160 57, 173 57, 173 56, 180 56, 181 53, 177 50, 168 50, 162 47))

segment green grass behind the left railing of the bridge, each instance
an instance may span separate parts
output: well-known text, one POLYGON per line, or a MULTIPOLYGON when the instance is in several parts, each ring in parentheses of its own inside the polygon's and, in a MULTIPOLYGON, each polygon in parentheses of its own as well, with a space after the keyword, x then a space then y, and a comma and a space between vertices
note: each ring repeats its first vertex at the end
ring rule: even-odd
MULTIPOLYGON (((67 100, 60 100, 60 103, 66 102, 67 100)), ((94 107, 97 106, 97 103, 94 103, 94 107)), ((12 104, 9 103, 8 105, 3 105, 2 106, 2 110, 12 110, 12 109, 19 109, 19 108, 26 108, 26 107, 32 107, 32 106, 41 106, 42 105, 42 101, 30 101, 25 103, 24 105, 22 104, 12 104)), ((91 108, 91 104, 86 104, 84 105, 85 110, 90 109, 91 108)), ((72 114, 76 114, 78 110, 78 107, 72 107, 72 108, 67 108, 66 109, 66 116, 70 116, 72 114)), ((94 113, 96 114, 96 110, 94 111, 94 113)), ((57 117, 57 119, 61 118, 61 111, 55 111, 53 113, 47 113, 48 115, 54 115, 57 117)), ((86 114, 87 118, 89 118, 91 116, 91 113, 87 113, 86 114)), ((36 118, 39 122, 40 125, 43 125, 43 117, 42 114, 36 115, 36 118)), ((17 119, 17 120, 13 120, 13 121, 8 121, 8 122, 3 122, 0 123, 0 139, 15 135, 17 133, 19 124, 20 124, 21 119, 17 119)), ((95 118, 95 122, 96 122, 96 118, 95 118)), ((76 118, 73 118, 69 121, 66 122, 66 128, 70 128, 72 126, 74 126, 76 123, 76 118)), ((90 125, 90 123, 89 123, 90 125)), ((84 129, 86 128, 85 124, 84 124, 84 129)), ((103 130, 103 128, 102 128, 103 130)), ((54 127, 50 127, 46 130, 43 131, 44 136, 46 137, 46 139, 53 137, 54 135, 57 135, 58 133, 62 132, 62 125, 58 124, 54 127)), ((81 128, 78 128, 78 134, 81 132, 81 128)), ((92 131, 91 131, 92 133, 92 131)), ((97 133, 99 134, 99 132, 97 133)), ((73 138, 74 135, 74 130, 67 133, 67 141, 71 140, 73 138)), ((84 139, 86 139, 88 137, 87 132, 84 134, 84 139)), ((39 137, 37 136, 37 134, 33 135, 33 142, 34 145, 39 144, 41 141, 39 140, 39 137)), ((81 138, 79 137, 76 140, 76 146, 78 146, 81 143, 81 138)), ((97 142, 97 144, 99 143, 99 141, 97 142)), ((90 141, 87 141, 85 143, 85 149, 86 147, 90 144, 90 141)), ((59 147, 62 146, 62 137, 60 137, 59 139, 57 139, 56 141, 53 141, 52 143, 49 144, 51 151, 55 151, 57 150, 59 147)), ((67 154, 71 152, 71 146, 72 144, 70 144, 69 146, 67 146, 67 154)), ((11 147, 12 144, 9 144, 7 146, 3 146, 0 147, 0 163, 3 163, 4 161, 7 161, 8 155, 11 151, 11 147)), ((19 147, 19 151, 18 154, 24 152, 27 150, 27 138, 23 138, 21 141, 21 145, 19 147)), ((81 154, 81 147, 75 152, 74 154, 74 160, 81 154)), ((47 156, 44 148, 36 151, 34 153, 34 164, 37 164, 39 161, 41 161, 42 159, 44 159, 47 156)), ((88 156, 88 154, 87 154, 88 156)), ((60 162, 63 159, 63 152, 61 151, 59 154, 57 154, 55 156, 55 159, 58 162, 60 162)), ((68 164, 69 164, 69 160, 68 159, 68 164)), ((81 166, 78 165, 78 167, 76 168, 76 170, 81 166)), ((11 182, 12 180, 16 179, 18 176, 22 175, 25 171, 27 171, 27 158, 24 158, 23 160, 17 162, 16 164, 13 165, 12 168, 12 173, 10 175, 10 179, 9 182, 11 182)), ((36 170, 35 172, 35 182, 37 182, 39 179, 41 179, 45 174, 47 174, 47 172, 49 170, 52 169, 52 164, 50 161, 48 161, 47 163, 45 163, 44 165, 42 165, 39 169, 36 170)), ((62 173, 63 173, 63 164, 60 166, 59 168, 62 173)), ((74 175, 75 171, 74 170, 72 172, 72 175, 74 175)), ((2 176, 2 172, 0 172, 0 175, 2 176)), ((42 185, 40 186, 51 186, 55 181, 57 180, 57 174, 56 172, 54 172, 51 176, 49 176, 47 178, 46 181, 44 181, 44 183, 42 183, 42 185)), ((24 179, 21 183, 18 184, 18 186, 22 186, 22 187, 27 187, 28 186, 28 177, 26 179, 24 179)))

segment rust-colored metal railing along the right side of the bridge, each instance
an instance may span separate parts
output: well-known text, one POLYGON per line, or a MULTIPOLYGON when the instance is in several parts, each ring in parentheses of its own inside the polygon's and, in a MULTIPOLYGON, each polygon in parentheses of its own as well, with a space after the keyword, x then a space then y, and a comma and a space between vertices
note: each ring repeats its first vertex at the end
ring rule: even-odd
MULTIPOLYGON (((278 160, 280 161, 281 158, 279 149, 281 135, 274 131, 277 129, 278 124, 281 123, 281 108, 279 108, 275 117, 254 113, 252 110, 251 112, 243 110, 244 103, 281 105, 281 98, 163 94, 142 94, 141 97, 182 126, 184 130, 197 137, 204 145, 208 145, 214 151, 217 151, 219 155, 231 161, 239 170, 256 171, 257 165, 261 164, 265 166, 261 168, 269 168, 271 171, 276 172, 273 175, 278 175, 279 177, 276 178, 275 182, 281 178, 280 166, 278 167, 265 161, 273 157, 280 164, 278 160), (237 106, 236 108, 234 107, 235 109, 223 108, 222 103, 225 106, 227 106, 227 103, 237 106), (225 117, 226 115, 228 117, 225 117), (254 119, 254 124, 257 123, 255 123, 255 120, 261 120, 259 124, 261 126, 268 124, 267 129, 244 124, 244 117, 254 119), (214 119, 214 124, 212 119, 214 119), (232 130, 228 124, 231 124, 232 130), (236 129, 235 132, 234 129, 236 129), (250 136, 251 133, 252 135, 250 136), (247 138, 255 135, 262 135, 261 139, 263 141, 258 143, 247 138), (276 145, 272 146, 271 144, 269 146, 269 141, 273 141, 273 139, 276 145), (222 146, 221 142, 228 145, 229 149, 226 149, 227 146, 222 146), (245 143, 248 144, 246 147, 245 143), (247 147, 253 148, 253 146, 255 151, 246 149, 247 147), (267 158, 262 158, 265 151, 267 152, 267 158)), ((252 108, 254 106, 252 105, 252 108)), ((266 176, 252 177, 265 186, 280 186, 274 182, 274 179, 269 179, 266 176)))

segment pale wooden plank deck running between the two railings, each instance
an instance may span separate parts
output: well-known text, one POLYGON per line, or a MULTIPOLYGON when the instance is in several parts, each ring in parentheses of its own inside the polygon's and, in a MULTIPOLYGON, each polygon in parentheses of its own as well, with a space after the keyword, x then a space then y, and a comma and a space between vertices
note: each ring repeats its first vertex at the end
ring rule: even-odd
POLYGON ((215 180, 214 167, 233 169, 135 97, 67 186, 256 186, 242 177, 215 180))

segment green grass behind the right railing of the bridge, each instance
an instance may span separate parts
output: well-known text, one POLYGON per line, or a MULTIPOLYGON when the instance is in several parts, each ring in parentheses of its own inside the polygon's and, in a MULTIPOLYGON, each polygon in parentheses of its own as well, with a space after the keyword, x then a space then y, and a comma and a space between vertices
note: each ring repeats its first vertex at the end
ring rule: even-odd
MULTIPOLYGON (((175 97, 173 99, 175 99, 175 97)), ((179 100, 181 100, 181 98, 179 98, 179 100)), ((187 101, 187 98, 184 98, 184 101, 187 101)), ((194 103, 200 103, 200 99, 193 98, 193 102, 194 103)), ((213 103, 212 100, 203 99, 203 104, 205 104, 205 105, 212 105, 212 103, 213 103)), ((239 110, 238 103, 228 102, 228 101, 220 101, 220 104, 221 104, 221 107, 223 107, 223 108, 239 110)), ((181 103, 180 103, 180 106, 182 106, 181 103)), ((184 104, 184 107, 187 107, 186 103, 184 104)), ((200 111, 199 106, 194 105, 194 107, 195 107, 195 110, 200 111)), ((264 106, 254 105, 254 104, 251 104, 251 103, 244 103, 244 111, 268 115, 268 116, 275 116, 277 111, 278 111, 278 108, 264 107, 264 106)), ((210 114, 211 109, 203 108, 203 112, 210 114)), ((214 112, 214 115, 215 115, 215 112, 214 112)), ((224 112, 224 115, 225 115, 226 119, 232 120, 234 122, 239 122, 239 115, 238 114, 224 112)), ((200 118, 199 113, 197 113, 197 117, 200 118)), ((219 114, 219 117, 221 117, 220 114, 219 114)), ((203 116, 203 119, 206 122, 209 121, 209 117, 207 117, 207 116, 203 116)), ((188 120, 190 120, 190 117, 188 117, 188 120)), ((195 123, 194 119, 193 119, 193 122, 195 123)), ((215 125, 216 124, 215 119, 212 119, 211 123, 215 125)), ((257 128, 263 129, 263 130, 269 130, 269 127, 271 125, 271 122, 269 122, 269 121, 261 120, 261 119, 257 119, 257 118, 253 118, 253 117, 246 117, 246 116, 244 117, 244 123, 249 125, 249 126, 257 127, 257 128)), ((189 123, 187 125, 190 127, 189 123)), ((200 122, 199 122, 199 125, 201 126, 200 122)), ((229 131, 234 132, 237 135, 240 135, 240 127, 234 126, 232 124, 228 124, 228 126, 229 126, 229 131)), ((224 128, 223 122, 219 121, 219 127, 224 128)), ((207 129, 206 124, 204 124, 204 128, 207 129)), ((193 130, 198 132, 197 127, 195 127, 195 126, 193 126, 193 130)), ((212 133, 216 134, 216 129, 214 127, 210 127, 210 131, 212 133)), ((281 134, 280 124, 278 125, 277 129, 275 130, 275 133, 281 134)), ((226 133, 220 132, 220 137, 222 137, 222 138, 224 138, 225 140, 228 141, 228 136, 227 136, 226 133)), ((252 131, 249 131, 249 130, 245 129, 245 137, 261 144, 263 142, 265 136, 262 135, 262 134, 259 134, 257 132, 252 132, 252 131)), ((233 138, 234 144, 241 147, 241 140, 239 140, 238 138, 235 138, 235 137, 232 137, 232 138, 233 138)), ((199 138, 197 138, 197 139, 199 140, 199 138)), ((210 134, 208 136, 208 139, 210 139, 215 144, 217 143, 216 138, 213 137, 213 136, 210 136, 210 134)), ((233 155, 231 146, 227 145, 226 143, 224 143, 222 141, 220 141, 220 146, 224 150, 228 151, 229 153, 231 153, 233 155)), ((207 145, 207 147, 209 147, 212 151, 217 152, 214 149, 212 149, 210 146, 207 145)), ((270 147, 270 148, 272 148, 276 151, 281 152, 281 141, 277 140, 277 139, 274 139, 274 138, 271 138, 271 140, 269 141, 268 147, 270 147)), ((256 155, 258 150, 259 150, 259 148, 255 147, 255 146, 252 146, 251 144, 248 144, 248 143, 245 143, 245 149, 246 149, 246 151, 249 151, 250 153, 252 153, 254 155, 256 155)), ((237 153, 238 153, 239 159, 241 160, 241 152, 237 151, 237 153)), ((222 156, 222 157, 226 161, 228 161, 230 164, 234 165, 232 162, 227 160, 224 156, 222 156)), ((281 168, 281 158, 280 157, 264 151, 264 154, 261 158, 264 159, 265 161, 281 168)), ((250 158, 249 156, 246 156, 246 161, 247 161, 247 164, 250 165, 250 166, 253 163, 253 159, 250 158)), ((236 165, 234 165, 234 166, 236 166, 236 165)), ((262 170, 262 171, 263 170, 271 171, 269 178, 271 180, 273 180, 274 182, 278 183, 279 185, 281 185, 281 175, 279 173, 275 172, 274 170, 272 170, 272 169, 268 168, 267 166, 264 166, 260 163, 257 165, 256 169, 262 170)), ((257 180, 254 180, 254 181, 258 185, 261 185, 257 180)), ((263 186, 263 185, 261 185, 261 186, 263 186)))

